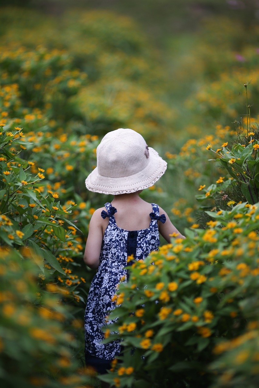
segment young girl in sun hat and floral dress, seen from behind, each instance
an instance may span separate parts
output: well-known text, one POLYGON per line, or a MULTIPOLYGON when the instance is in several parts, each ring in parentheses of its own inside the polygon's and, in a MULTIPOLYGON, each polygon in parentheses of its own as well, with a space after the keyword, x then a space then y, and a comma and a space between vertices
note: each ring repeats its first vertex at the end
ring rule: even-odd
POLYGON ((86 364, 105 373, 119 355, 120 343, 103 344, 101 328, 107 312, 115 308, 112 296, 121 277, 126 276, 128 256, 143 260, 157 250, 159 232, 167 242, 173 232, 185 237, 161 207, 139 197, 166 170, 166 162, 139 133, 122 128, 109 132, 96 153, 97 167, 87 177, 86 187, 113 194, 114 199, 93 213, 89 225, 84 262, 97 271, 87 298, 85 340, 86 364))

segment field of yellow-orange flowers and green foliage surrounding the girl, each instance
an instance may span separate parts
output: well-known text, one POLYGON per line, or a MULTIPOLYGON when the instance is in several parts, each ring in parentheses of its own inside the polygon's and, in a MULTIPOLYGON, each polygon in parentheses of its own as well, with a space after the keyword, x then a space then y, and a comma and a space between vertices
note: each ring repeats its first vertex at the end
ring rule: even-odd
POLYGON ((84 363, 93 271, 82 256, 91 215, 111 198, 84 180, 101 137, 122 127, 168 162, 142 195, 187 238, 121 279, 104 336, 119 336, 123 353, 101 379, 257 388, 258 27, 206 20, 169 80, 128 17, 11 7, 0 20, 1 386, 100 384, 84 363), (179 98, 176 78, 188 89, 179 98))

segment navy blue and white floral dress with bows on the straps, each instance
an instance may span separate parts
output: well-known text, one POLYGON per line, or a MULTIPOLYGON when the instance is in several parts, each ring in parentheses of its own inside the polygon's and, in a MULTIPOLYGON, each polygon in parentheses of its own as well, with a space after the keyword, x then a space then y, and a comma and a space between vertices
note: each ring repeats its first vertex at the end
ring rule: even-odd
POLYGON ((108 217, 109 223, 103 236, 100 253, 100 265, 90 286, 85 312, 86 359, 94 356, 98 359, 112 360, 120 352, 119 341, 103 344, 101 328, 105 325, 105 317, 114 310, 115 302, 111 301, 116 286, 122 276, 126 277, 127 258, 132 255, 142 260, 151 251, 158 250, 160 244, 158 220, 166 221, 165 215, 159 215, 159 207, 152 203, 151 222, 149 228, 129 231, 119 228, 114 213, 117 210, 105 203, 106 211, 101 212, 103 218, 108 217))

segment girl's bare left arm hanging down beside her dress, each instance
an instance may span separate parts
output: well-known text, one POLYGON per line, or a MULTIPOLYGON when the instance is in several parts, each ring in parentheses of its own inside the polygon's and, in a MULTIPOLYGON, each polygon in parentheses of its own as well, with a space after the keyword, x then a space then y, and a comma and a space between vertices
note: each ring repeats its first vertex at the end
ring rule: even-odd
POLYGON ((98 209, 93 213, 89 223, 89 233, 84 251, 84 262, 93 269, 97 269, 100 264, 101 244, 103 241, 102 221, 101 209, 98 209))

